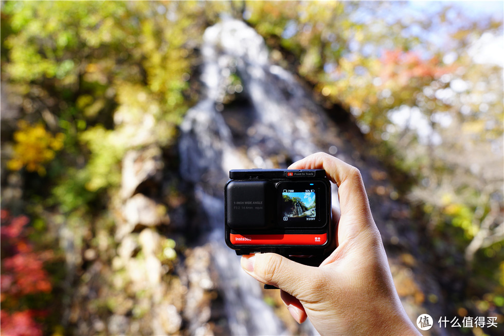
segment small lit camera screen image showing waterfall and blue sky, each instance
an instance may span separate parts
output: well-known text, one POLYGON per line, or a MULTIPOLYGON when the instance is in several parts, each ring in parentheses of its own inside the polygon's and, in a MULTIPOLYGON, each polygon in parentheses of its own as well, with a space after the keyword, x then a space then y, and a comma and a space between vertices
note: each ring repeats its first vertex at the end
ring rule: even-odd
POLYGON ((314 189, 304 192, 290 192, 284 189, 282 192, 282 215, 283 220, 291 218, 305 218, 315 220, 317 217, 316 197, 314 189))

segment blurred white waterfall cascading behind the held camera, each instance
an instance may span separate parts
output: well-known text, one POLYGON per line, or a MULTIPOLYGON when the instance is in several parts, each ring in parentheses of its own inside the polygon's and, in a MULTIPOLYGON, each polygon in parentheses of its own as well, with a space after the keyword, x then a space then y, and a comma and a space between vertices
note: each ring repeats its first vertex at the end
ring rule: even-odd
MULTIPOLYGON (((239 257, 224 243, 223 188, 229 169, 272 168, 274 161, 285 167, 290 160, 319 151, 316 143, 327 131, 327 121, 295 78, 269 63, 264 41, 253 28, 224 20, 209 27, 203 40, 201 80, 206 94, 181 125, 181 174, 194 186, 196 202, 208 218, 204 239, 212 246, 230 331, 286 334, 262 299, 262 285, 242 271, 239 257), (247 106, 231 112, 222 104, 230 74, 240 77, 248 100, 247 106), (238 130, 245 134, 236 134, 238 130)), ((333 199, 337 202, 336 195, 333 199)), ((301 328, 302 333, 317 334, 309 322, 301 328)))

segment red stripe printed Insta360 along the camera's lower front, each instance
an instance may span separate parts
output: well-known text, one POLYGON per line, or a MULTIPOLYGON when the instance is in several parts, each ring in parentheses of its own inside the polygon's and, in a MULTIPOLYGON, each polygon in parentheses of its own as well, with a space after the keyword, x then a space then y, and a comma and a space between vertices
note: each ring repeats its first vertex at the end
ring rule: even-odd
POLYGON ((313 235, 233 235, 229 234, 233 245, 323 245, 327 234, 313 235))

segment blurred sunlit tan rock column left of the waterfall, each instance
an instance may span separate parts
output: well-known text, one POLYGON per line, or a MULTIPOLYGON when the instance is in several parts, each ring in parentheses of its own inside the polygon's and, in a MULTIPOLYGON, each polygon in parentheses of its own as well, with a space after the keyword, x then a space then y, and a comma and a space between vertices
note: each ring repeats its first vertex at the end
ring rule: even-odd
MULTIPOLYGON (((121 115, 127 112, 121 111, 121 115)), ((133 127, 125 125, 128 120, 121 118, 121 125, 133 127)), ((183 220, 188 210, 181 206, 184 199, 164 190, 179 172, 166 170, 163 150, 156 145, 153 133, 143 133, 148 136, 137 135, 134 148, 122 158, 121 188, 111 201, 115 241, 104 238, 103 242, 104 251, 110 254, 110 268, 102 265, 99 272, 90 268, 85 275, 93 278, 103 274, 101 282, 93 283, 103 298, 89 297, 88 285, 82 286, 86 292, 76 296, 76 301, 88 302, 88 306, 105 305, 111 314, 106 319, 98 315, 81 319, 78 333, 211 335, 219 329, 214 328, 212 320, 220 315, 212 316, 211 310, 217 293, 210 245, 191 248, 184 245, 183 239, 178 244, 170 238, 172 233, 183 237, 187 229, 183 220), (170 207, 176 208, 174 226, 170 207)), ((90 256, 84 254, 86 260, 96 259, 90 256)), ((82 311, 70 322, 76 322, 78 316, 82 311)))

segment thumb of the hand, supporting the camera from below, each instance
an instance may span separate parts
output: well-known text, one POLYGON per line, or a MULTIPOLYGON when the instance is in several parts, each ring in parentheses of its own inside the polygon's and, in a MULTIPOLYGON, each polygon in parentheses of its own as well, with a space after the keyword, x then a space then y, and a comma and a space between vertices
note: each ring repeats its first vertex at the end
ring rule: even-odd
POLYGON ((278 287, 298 298, 317 283, 313 280, 319 278, 320 273, 317 267, 297 263, 276 253, 242 256, 241 266, 256 280, 278 287))

